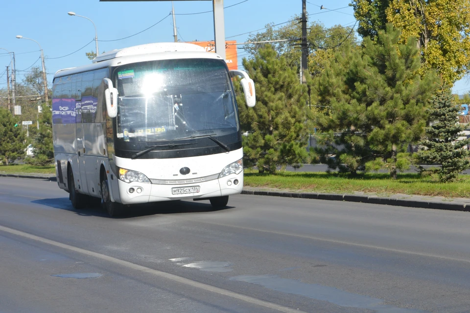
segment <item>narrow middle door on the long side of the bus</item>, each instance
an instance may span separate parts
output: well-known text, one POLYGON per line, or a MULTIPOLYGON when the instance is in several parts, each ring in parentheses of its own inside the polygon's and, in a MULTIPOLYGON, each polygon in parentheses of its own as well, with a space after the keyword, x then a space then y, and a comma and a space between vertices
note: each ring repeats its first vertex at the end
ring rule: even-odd
POLYGON ((78 169, 80 172, 79 190, 80 193, 89 194, 87 174, 85 171, 85 144, 83 138, 83 124, 82 124, 82 91, 81 91, 81 76, 75 74, 72 76, 72 98, 75 99, 75 112, 76 112, 76 127, 77 127, 77 156, 78 156, 78 169))

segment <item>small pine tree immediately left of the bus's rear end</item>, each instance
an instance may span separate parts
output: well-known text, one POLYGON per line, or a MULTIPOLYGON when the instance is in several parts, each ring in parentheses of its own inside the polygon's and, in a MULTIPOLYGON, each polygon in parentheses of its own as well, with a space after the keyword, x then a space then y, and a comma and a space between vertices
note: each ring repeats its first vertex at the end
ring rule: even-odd
POLYGON ((52 112, 50 107, 43 104, 42 117, 39 120, 39 132, 33 142, 34 158, 26 158, 26 163, 36 166, 46 166, 54 160, 52 144, 52 112))

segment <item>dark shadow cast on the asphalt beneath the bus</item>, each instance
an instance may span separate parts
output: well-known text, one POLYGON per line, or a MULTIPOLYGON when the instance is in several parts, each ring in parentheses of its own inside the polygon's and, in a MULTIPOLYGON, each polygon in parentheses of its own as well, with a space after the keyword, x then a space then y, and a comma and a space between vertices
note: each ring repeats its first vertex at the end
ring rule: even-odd
MULTIPOLYGON (((46 205, 55 209, 71 211, 82 216, 97 216, 110 218, 108 212, 102 206, 89 206, 82 209, 75 209, 71 205, 69 198, 49 198, 31 201, 35 204, 46 205)), ((161 214, 188 214, 188 213, 209 213, 232 209, 233 206, 213 208, 210 203, 200 201, 162 201, 143 204, 133 204, 126 206, 126 212, 117 219, 134 218, 148 215, 161 214)))

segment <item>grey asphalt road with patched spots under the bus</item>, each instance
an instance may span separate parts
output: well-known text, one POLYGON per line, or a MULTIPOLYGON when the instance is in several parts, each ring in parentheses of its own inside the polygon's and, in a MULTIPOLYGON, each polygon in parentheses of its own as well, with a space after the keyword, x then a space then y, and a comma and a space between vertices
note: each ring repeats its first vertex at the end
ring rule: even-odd
POLYGON ((73 210, 0 178, 0 313, 469 312, 470 214, 262 196, 73 210))

